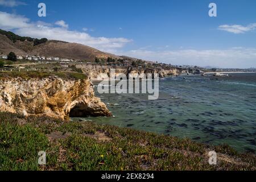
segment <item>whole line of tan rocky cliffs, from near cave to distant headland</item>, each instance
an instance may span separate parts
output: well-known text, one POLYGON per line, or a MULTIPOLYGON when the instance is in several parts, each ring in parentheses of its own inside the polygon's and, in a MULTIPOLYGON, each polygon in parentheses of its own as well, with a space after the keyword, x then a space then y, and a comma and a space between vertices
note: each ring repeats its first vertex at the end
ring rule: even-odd
MULTIPOLYGON (((91 81, 103 80, 111 75, 113 67, 77 64, 85 79, 69 79, 59 76, 44 78, 0 77, 0 111, 16 114, 47 115, 69 120, 69 117, 111 117, 112 114, 94 96, 91 81)), ((26 72, 24 72, 26 74, 26 72)), ((159 77, 179 75, 179 69, 117 68, 115 75, 129 76, 158 73, 159 77)))

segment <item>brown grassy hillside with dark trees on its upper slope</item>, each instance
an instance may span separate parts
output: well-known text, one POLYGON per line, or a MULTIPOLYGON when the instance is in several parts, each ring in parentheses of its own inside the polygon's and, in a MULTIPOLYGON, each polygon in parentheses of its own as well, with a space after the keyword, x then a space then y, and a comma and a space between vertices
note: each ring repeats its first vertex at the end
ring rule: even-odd
POLYGON ((16 55, 53 56, 88 61, 94 61, 95 57, 101 59, 121 58, 82 44, 33 39, 0 30, 0 53, 7 55, 9 52, 14 52, 16 55))

